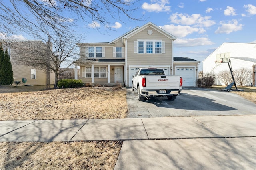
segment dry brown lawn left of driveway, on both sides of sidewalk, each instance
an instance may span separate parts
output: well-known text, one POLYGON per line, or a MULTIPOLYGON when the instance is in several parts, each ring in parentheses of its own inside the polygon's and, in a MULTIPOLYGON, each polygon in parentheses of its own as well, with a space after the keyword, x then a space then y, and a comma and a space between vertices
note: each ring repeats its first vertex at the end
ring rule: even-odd
MULTIPOLYGON (((0 120, 114 119, 125 118, 127 114, 125 89, 18 88, 14 88, 15 93, 10 88, 0 89, 0 120)), ((0 170, 111 170, 121 146, 120 141, 0 142, 0 170)))

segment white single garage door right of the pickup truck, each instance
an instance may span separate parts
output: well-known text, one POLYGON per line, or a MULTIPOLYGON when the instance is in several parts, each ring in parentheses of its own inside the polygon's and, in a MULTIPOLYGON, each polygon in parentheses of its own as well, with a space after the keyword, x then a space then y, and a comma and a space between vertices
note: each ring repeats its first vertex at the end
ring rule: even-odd
POLYGON ((175 71, 175 75, 181 75, 183 79, 184 87, 194 87, 195 82, 195 68, 186 68, 186 67, 177 67, 175 71))

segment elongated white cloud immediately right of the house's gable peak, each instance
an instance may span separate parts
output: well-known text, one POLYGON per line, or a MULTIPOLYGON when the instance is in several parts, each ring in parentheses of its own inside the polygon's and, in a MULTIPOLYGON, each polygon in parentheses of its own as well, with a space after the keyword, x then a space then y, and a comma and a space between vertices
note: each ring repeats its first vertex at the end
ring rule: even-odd
POLYGON ((186 37, 187 35, 192 34, 194 32, 198 32, 200 34, 206 32, 203 28, 195 28, 195 27, 180 26, 180 25, 175 26, 174 24, 164 25, 159 27, 166 30, 170 34, 173 34, 178 38, 186 37))

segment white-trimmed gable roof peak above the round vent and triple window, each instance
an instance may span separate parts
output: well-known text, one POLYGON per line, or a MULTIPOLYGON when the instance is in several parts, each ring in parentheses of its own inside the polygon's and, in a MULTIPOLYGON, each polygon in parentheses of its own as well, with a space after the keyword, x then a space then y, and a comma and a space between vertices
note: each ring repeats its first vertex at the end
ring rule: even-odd
POLYGON ((131 36, 134 36, 135 34, 137 34, 138 32, 140 32, 141 30, 143 30, 144 28, 146 28, 148 26, 151 26, 152 28, 154 28, 158 32, 160 32, 162 34, 165 34, 168 38, 172 39, 173 41, 176 40, 176 38, 177 38, 174 35, 170 34, 169 32, 165 31, 164 29, 160 28, 159 26, 156 26, 152 22, 148 22, 147 24, 144 24, 143 26, 135 29, 134 31, 124 35, 123 38, 130 38, 131 36))

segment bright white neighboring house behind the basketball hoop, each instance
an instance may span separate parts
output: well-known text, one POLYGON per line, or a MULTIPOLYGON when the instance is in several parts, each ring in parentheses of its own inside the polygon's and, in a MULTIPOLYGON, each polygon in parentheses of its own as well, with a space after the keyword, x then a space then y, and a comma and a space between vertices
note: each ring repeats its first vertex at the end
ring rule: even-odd
MULTIPOLYGON (((255 43, 223 43, 204 61, 203 73, 214 71, 218 74, 222 70, 229 70, 228 63, 215 64, 216 54, 230 52, 232 70, 246 68, 252 71, 251 83, 255 86, 256 44, 255 43)), ((224 85, 218 78, 217 85, 224 85)))

